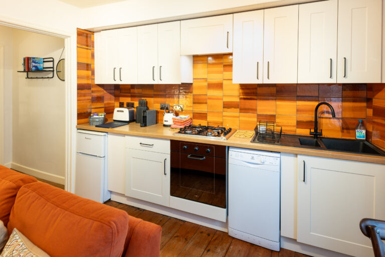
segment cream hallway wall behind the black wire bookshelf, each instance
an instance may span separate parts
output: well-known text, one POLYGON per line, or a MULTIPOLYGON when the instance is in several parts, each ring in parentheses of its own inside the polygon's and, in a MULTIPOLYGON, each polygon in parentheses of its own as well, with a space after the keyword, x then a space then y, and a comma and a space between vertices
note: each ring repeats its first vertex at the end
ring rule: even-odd
MULTIPOLYGON (((65 82, 56 74, 26 79, 26 73, 17 72, 25 56, 54 57, 56 68, 64 39, 15 29, 13 41, 12 168, 64 184, 65 82)), ((44 75, 50 74, 37 74, 44 75)))

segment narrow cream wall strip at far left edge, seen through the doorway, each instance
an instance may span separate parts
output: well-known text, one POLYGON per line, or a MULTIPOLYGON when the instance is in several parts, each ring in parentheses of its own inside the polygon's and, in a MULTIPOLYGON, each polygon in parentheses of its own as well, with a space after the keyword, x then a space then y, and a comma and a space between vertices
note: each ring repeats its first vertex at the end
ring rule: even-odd
MULTIPOLYGON (((0 104, 2 104, 4 123, 0 123, 4 135, 4 145, 0 146, 3 155, 3 163, 8 167, 12 161, 12 65, 13 65, 13 29, 0 26, 0 46, 4 47, 4 89, 0 93, 0 104)), ((0 122, 2 122, 0 120, 0 122)), ((0 158, 2 159, 2 158, 0 158)))

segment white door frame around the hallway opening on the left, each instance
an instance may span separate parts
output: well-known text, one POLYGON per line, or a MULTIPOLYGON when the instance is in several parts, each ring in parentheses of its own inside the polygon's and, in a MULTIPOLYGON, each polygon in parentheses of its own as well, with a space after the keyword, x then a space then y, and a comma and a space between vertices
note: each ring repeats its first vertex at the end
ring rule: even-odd
MULTIPOLYGON (((35 26, 6 17, 0 17, 0 25, 36 32, 44 35, 65 39, 65 190, 74 192, 75 189, 75 146, 76 146, 76 124, 77 124, 77 32, 61 32, 47 27, 35 26)), ((0 94, 1 96, 1 94, 0 94)), ((4 101, 3 101, 4 102, 4 101)), ((54 147, 54 146, 53 146, 54 147)))

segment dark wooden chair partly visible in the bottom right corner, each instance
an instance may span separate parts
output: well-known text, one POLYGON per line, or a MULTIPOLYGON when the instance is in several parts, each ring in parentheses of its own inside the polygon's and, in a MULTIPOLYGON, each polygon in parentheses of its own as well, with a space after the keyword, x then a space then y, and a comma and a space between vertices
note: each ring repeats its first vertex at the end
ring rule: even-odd
POLYGON ((381 239, 385 240, 385 221, 378 219, 361 219, 359 228, 365 236, 370 238, 374 256, 384 257, 385 243, 383 243, 381 239))

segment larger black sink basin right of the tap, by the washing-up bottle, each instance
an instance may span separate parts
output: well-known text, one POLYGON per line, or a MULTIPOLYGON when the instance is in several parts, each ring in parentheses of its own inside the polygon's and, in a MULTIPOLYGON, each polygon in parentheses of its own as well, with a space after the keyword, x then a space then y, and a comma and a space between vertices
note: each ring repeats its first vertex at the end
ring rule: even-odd
POLYGON ((372 148, 366 141, 344 139, 321 139, 326 149, 352 153, 382 155, 380 151, 372 148))

